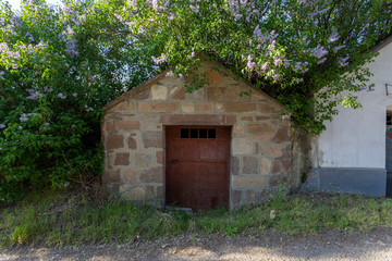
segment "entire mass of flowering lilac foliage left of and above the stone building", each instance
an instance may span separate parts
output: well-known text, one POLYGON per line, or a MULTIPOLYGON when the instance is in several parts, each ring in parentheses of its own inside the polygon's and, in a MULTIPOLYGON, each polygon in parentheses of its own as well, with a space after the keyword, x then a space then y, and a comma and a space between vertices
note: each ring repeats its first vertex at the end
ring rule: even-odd
MULTIPOLYGON (((358 108, 360 67, 391 29, 387 0, 0 0, 0 201, 101 169, 100 108, 160 69, 215 57, 319 133, 358 108), (317 92, 317 99, 315 94, 317 92), (343 95, 342 95, 343 94, 343 95)), ((188 90, 203 85, 204 77, 188 90)))

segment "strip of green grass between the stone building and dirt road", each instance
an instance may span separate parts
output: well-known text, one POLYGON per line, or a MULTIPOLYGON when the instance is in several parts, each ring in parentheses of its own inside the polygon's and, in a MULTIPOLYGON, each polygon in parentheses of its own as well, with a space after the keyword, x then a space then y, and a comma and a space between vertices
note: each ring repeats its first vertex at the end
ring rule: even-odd
POLYGON ((278 196, 233 212, 218 209, 189 215, 113 199, 97 203, 72 191, 47 191, 0 209, 0 248, 23 244, 61 247, 123 243, 183 232, 235 236, 275 229, 295 235, 330 228, 368 231, 378 226, 392 227, 391 199, 317 194, 278 196))

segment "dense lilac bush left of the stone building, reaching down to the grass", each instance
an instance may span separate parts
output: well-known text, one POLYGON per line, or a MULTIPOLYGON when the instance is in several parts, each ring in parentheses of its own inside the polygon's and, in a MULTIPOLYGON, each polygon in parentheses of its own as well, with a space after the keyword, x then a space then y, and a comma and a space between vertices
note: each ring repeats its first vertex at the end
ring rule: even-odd
POLYGON ((0 1, 0 202, 101 172, 100 109, 154 72, 117 29, 87 1, 0 1))

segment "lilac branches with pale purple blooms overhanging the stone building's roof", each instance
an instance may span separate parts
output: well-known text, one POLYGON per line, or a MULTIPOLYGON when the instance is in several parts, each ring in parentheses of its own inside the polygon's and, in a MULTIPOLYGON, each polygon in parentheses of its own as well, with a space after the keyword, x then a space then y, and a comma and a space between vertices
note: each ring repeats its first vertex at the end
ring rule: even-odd
POLYGON ((97 7, 136 44, 162 42, 151 59, 172 69, 168 76, 197 75, 197 53, 208 53, 277 98, 297 126, 315 134, 339 102, 360 107, 347 91, 371 90, 370 73, 360 65, 390 34, 392 16, 387 0, 128 0, 97 7))

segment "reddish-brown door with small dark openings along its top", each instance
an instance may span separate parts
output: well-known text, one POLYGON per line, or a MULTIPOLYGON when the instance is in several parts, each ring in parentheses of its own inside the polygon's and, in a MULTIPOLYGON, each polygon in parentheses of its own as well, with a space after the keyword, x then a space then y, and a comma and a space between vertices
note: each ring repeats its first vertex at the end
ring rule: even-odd
POLYGON ((229 206, 230 127, 167 126, 166 203, 229 206))

